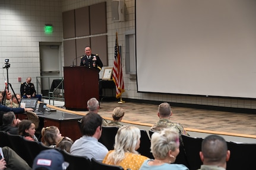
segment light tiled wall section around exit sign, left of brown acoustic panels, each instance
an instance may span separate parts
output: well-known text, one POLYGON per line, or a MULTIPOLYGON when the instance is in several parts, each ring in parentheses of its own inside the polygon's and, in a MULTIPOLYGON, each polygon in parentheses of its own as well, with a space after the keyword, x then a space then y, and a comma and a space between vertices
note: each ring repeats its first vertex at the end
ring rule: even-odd
MULTIPOLYGON (((62 12, 59 0, 0 1, 0 65, 10 59, 9 82, 20 93, 20 82, 27 76, 36 82, 40 76, 39 42, 62 41, 62 12), (53 24, 53 34, 44 25, 53 24)), ((0 89, 4 89, 7 70, 0 69, 0 89)))

